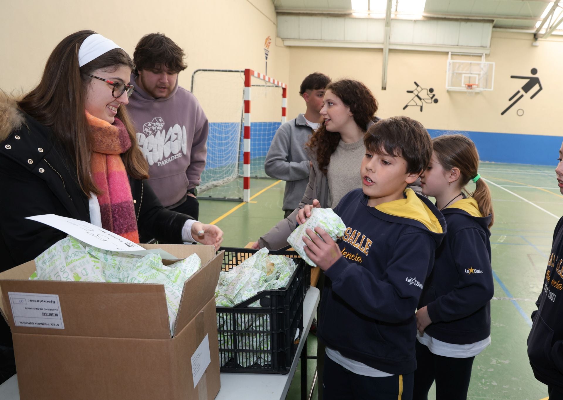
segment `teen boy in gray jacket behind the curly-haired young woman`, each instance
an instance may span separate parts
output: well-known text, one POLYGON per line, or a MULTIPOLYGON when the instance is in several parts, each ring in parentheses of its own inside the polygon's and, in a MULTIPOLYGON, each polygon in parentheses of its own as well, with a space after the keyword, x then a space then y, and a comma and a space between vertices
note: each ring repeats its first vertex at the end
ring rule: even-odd
POLYGON ((319 112, 323 108, 324 88, 329 83, 330 78, 319 72, 303 79, 299 94, 307 105, 306 112, 278 128, 266 155, 266 174, 286 181, 282 206, 284 217, 297 208, 307 188, 311 165, 305 144, 323 119, 319 112))

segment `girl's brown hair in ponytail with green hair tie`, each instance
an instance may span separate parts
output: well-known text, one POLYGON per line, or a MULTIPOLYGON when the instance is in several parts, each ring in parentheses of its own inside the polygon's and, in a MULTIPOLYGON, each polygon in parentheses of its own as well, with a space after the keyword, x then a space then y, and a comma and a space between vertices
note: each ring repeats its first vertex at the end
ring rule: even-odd
MULTIPOLYGON (((471 179, 477 176, 479 153, 477 153, 475 143, 467 136, 459 134, 439 136, 432 140, 432 147, 434 148, 436 158, 444 170, 459 168, 461 173, 459 181, 462 189, 465 188, 471 179)), ((479 205, 479 211, 482 216, 491 215, 490 228, 494 223, 494 211, 489 185, 483 179, 477 180, 475 185, 475 192, 470 193, 470 196, 479 205)))

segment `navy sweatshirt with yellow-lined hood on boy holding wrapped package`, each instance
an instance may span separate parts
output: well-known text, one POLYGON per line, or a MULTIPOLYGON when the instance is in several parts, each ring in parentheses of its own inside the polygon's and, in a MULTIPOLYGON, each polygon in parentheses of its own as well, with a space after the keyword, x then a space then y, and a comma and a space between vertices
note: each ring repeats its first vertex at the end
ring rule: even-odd
POLYGON ((368 206, 361 189, 334 209, 347 226, 339 258, 325 271, 318 336, 347 358, 388 374, 416 369, 418 304, 445 232, 440 211, 412 189, 368 206))

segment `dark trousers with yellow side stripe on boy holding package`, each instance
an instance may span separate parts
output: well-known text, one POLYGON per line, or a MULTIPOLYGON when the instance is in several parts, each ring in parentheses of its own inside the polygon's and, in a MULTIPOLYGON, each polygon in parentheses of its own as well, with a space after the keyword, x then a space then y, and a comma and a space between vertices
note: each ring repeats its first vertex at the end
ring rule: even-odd
POLYGON ((386 377, 358 375, 325 357, 323 400, 412 400, 413 381, 414 372, 386 377))

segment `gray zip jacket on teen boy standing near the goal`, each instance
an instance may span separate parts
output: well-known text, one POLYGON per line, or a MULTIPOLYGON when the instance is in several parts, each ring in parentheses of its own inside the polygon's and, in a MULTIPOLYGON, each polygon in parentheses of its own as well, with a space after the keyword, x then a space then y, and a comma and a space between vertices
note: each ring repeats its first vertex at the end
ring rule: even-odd
POLYGON ((309 182, 309 154, 305 144, 312 129, 303 114, 278 128, 266 155, 264 170, 272 178, 286 181, 283 195, 285 210, 295 210, 309 182))

